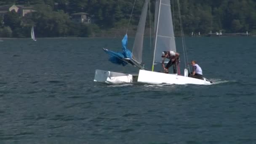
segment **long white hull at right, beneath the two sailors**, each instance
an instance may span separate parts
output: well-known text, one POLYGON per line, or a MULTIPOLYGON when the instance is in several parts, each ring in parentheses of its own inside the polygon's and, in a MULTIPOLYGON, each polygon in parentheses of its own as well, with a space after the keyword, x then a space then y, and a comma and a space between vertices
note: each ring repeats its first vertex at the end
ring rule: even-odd
POLYGON ((165 74, 161 72, 152 72, 147 70, 139 70, 139 83, 148 83, 153 85, 158 84, 178 84, 178 85, 185 85, 185 84, 195 84, 195 85, 211 85, 206 78, 204 80, 192 78, 192 77, 185 77, 176 74, 165 74))

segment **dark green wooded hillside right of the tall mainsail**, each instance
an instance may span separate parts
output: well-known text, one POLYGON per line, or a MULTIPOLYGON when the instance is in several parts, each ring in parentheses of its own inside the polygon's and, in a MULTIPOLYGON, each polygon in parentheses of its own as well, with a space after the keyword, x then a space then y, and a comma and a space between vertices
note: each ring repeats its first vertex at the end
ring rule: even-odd
MULTIPOLYGON (((172 2, 173 0, 171 0, 172 2)), ((177 3, 174 0, 174 9, 177 3)), ((256 23, 255 0, 180 0, 184 32, 208 33, 253 31, 256 23)), ((175 24, 179 24, 178 13, 175 24)), ((176 27, 176 32, 179 28, 176 27)))

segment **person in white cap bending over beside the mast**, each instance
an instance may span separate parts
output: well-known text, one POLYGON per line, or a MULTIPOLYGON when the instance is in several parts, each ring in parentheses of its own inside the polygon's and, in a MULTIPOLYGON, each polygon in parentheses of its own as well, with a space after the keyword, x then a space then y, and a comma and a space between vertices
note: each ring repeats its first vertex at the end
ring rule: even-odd
POLYGON ((162 67, 165 73, 169 73, 169 67, 173 65, 173 73, 177 73, 177 65, 179 64, 179 53, 175 53, 174 51, 163 51, 162 53, 162 67), (165 59, 170 59, 168 64, 165 66, 165 59))

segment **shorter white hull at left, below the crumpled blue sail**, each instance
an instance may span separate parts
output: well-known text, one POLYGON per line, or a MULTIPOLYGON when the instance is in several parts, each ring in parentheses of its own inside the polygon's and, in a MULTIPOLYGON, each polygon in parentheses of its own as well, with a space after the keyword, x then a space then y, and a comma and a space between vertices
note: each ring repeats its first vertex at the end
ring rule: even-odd
POLYGON ((108 84, 133 83, 133 75, 96 69, 93 81, 108 84))

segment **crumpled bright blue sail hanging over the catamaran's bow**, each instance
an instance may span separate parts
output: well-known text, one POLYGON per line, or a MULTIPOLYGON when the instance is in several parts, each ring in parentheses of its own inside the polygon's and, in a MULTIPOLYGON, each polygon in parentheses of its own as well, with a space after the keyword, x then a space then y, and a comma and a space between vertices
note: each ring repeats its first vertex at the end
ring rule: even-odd
POLYGON ((130 50, 128 50, 127 43, 128 43, 128 37, 126 34, 122 40, 123 52, 109 51, 108 49, 103 48, 103 50, 109 54, 109 61, 111 61, 113 64, 122 64, 123 66, 128 64, 125 61, 125 59, 131 59, 132 53, 130 50))

